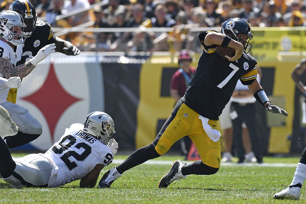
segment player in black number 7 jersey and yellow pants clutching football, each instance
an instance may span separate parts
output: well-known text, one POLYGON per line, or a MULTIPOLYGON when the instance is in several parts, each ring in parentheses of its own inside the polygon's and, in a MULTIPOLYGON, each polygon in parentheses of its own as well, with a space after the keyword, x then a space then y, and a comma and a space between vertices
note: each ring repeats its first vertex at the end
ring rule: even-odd
POLYGON ((203 52, 195 75, 185 95, 177 102, 155 140, 131 154, 114 169, 106 172, 99 187, 106 188, 121 174, 149 159, 165 154, 185 135, 189 135, 199 151, 201 160, 192 164, 174 161, 170 171, 159 181, 159 187, 168 187, 173 181, 189 174, 211 175, 218 172, 221 162, 220 132, 217 120, 229 102, 237 81, 248 85, 258 102, 272 113, 288 115, 286 111, 271 104, 257 77, 257 62, 247 54, 253 38, 251 27, 243 19, 231 18, 222 24, 221 32, 200 33, 203 52), (216 53, 216 45, 235 49, 235 55, 224 59, 216 53))

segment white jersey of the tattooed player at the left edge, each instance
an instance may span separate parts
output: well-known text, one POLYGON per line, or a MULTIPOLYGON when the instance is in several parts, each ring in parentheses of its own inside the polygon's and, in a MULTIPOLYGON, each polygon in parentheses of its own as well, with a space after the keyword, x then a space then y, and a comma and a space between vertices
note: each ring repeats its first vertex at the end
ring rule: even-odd
MULTIPOLYGON (((0 40, 0 58, 8 59, 15 67, 17 61, 21 60, 21 55, 22 55, 22 44, 19 44, 16 48, 16 52, 14 52, 13 48, 9 44, 0 40)), ((2 74, 0 76, 3 77, 2 74)), ((0 103, 6 101, 8 93, 9 93, 9 88, 0 87, 0 103)))

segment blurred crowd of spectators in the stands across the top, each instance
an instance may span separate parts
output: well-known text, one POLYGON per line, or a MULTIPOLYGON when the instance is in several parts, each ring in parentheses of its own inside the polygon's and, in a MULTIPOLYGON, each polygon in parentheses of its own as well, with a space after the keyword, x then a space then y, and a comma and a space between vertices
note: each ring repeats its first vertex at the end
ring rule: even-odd
MULTIPOLYGON (((0 0, 7 10, 13 0, 0 0)), ((220 27, 240 17, 252 27, 305 26, 306 0, 109 0, 82 13, 56 19, 100 0, 30 0, 39 18, 53 28, 114 28, 114 32, 74 32, 60 37, 82 51, 179 51, 191 49, 190 28, 220 27), (88 25, 86 23, 92 22, 88 25), (147 28, 173 28, 152 32, 147 28), (117 28, 117 29, 116 29, 117 28), (122 32, 118 28, 135 28, 122 32)), ((192 49, 191 49, 192 50, 192 49)))

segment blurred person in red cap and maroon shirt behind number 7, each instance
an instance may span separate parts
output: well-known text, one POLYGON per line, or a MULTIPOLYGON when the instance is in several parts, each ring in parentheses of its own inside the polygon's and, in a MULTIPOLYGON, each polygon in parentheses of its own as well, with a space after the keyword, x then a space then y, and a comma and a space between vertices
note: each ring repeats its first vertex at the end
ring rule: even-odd
MULTIPOLYGON (((178 57, 178 64, 180 69, 177 70, 170 83, 170 95, 175 101, 179 101, 185 94, 191 79, 196 72, 196 68, 192 67, 190 64, 192 62, 192 57, 188 50, 182 50, 178 57)), ((184 158, 187 158, 187 154, 191 147, 192 140, 187 135, 180 139, 181 142, 181 154, 184 158)))

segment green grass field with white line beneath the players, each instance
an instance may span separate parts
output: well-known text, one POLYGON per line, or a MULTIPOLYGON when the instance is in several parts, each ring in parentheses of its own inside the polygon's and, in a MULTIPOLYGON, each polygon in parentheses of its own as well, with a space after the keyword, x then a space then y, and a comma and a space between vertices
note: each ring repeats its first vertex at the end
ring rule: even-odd
MULTIPOLYGON (((99 180, 126 157, 116 155, 116 160, 102 170, 99 180)), ((0 203, 306 203, 303 188, 299 201, 272 198, 291 183, 299 158, 265 157, 263 165, 225 163, 214 175, 189 175, 180 183, 159 189, 159 179, 176 159, 182 157, 162 156, 132 168, 110 189, 82 189, 79 181, 58 188, 13 189, 0 179, 0 203)))

